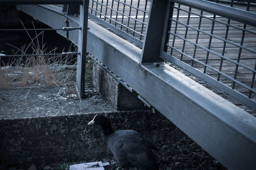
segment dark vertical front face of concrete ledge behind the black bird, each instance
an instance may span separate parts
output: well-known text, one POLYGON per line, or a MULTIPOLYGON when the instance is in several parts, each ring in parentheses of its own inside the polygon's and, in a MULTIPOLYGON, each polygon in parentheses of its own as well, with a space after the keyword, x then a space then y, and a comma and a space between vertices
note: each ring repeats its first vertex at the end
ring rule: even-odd
MULTIPOLYGON (((88 126, 95 114, 0 120, 0 160, 28 167, 31 163, 77 162, 111 158, 100 127, 88 126)), ((160 147, 180 139, 182 132, 160 113, 120 111, 104 113, 113 129, 134 129, 160 147)))

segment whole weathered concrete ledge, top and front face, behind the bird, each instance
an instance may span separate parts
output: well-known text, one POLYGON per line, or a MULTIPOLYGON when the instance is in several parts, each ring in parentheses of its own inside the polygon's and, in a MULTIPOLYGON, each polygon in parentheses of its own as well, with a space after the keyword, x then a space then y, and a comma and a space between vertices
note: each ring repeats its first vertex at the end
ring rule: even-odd
POLYGON ((1 162, 29 167, 113 157, 100 127, 87 125, 95 114, 107 115, 114 129, 140 132, 157 147, 183 136, 160 113, 116 111, 97 92, 81 102, 64 92, 60 87, 0 90, 1 162))

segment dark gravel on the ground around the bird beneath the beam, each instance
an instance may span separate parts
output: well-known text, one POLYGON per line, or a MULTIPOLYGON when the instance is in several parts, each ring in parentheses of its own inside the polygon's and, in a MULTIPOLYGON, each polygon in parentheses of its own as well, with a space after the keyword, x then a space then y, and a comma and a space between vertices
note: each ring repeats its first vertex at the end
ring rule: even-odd
MULTIPOLYGON (((158 149, 159 152, 155 152, 155 155, 159 169, 225 169, 218 160, 212 158, 188 136, 172 145, 166 141, 166 144, 158 149)), ((109 166, 104 167, 106 170, 118 167, 115 158, 105 159, 102 162, 110 162, 109 166)))

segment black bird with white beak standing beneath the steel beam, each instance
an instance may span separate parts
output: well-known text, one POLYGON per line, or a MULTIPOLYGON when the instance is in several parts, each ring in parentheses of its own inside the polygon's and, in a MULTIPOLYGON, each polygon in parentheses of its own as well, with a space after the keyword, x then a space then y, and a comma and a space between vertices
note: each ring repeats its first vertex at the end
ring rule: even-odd
POLYGON ((157 162, 152 150, 157 150, 147 139, 132 130, 113 131, 111 122, 102 115, 95 115, 88 125, 102 127, 106 143, 118 162, 120 169, 138 167, 157 170, 157 162))

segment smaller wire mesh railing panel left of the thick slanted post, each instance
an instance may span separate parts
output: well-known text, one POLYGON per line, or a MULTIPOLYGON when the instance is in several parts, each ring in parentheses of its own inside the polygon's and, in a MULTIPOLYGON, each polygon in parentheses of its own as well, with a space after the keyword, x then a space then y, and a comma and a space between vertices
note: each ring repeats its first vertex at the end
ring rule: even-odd
POLYGON ((89 17, 141 47, 149 8, 148 0, 90 0, 89 17))

